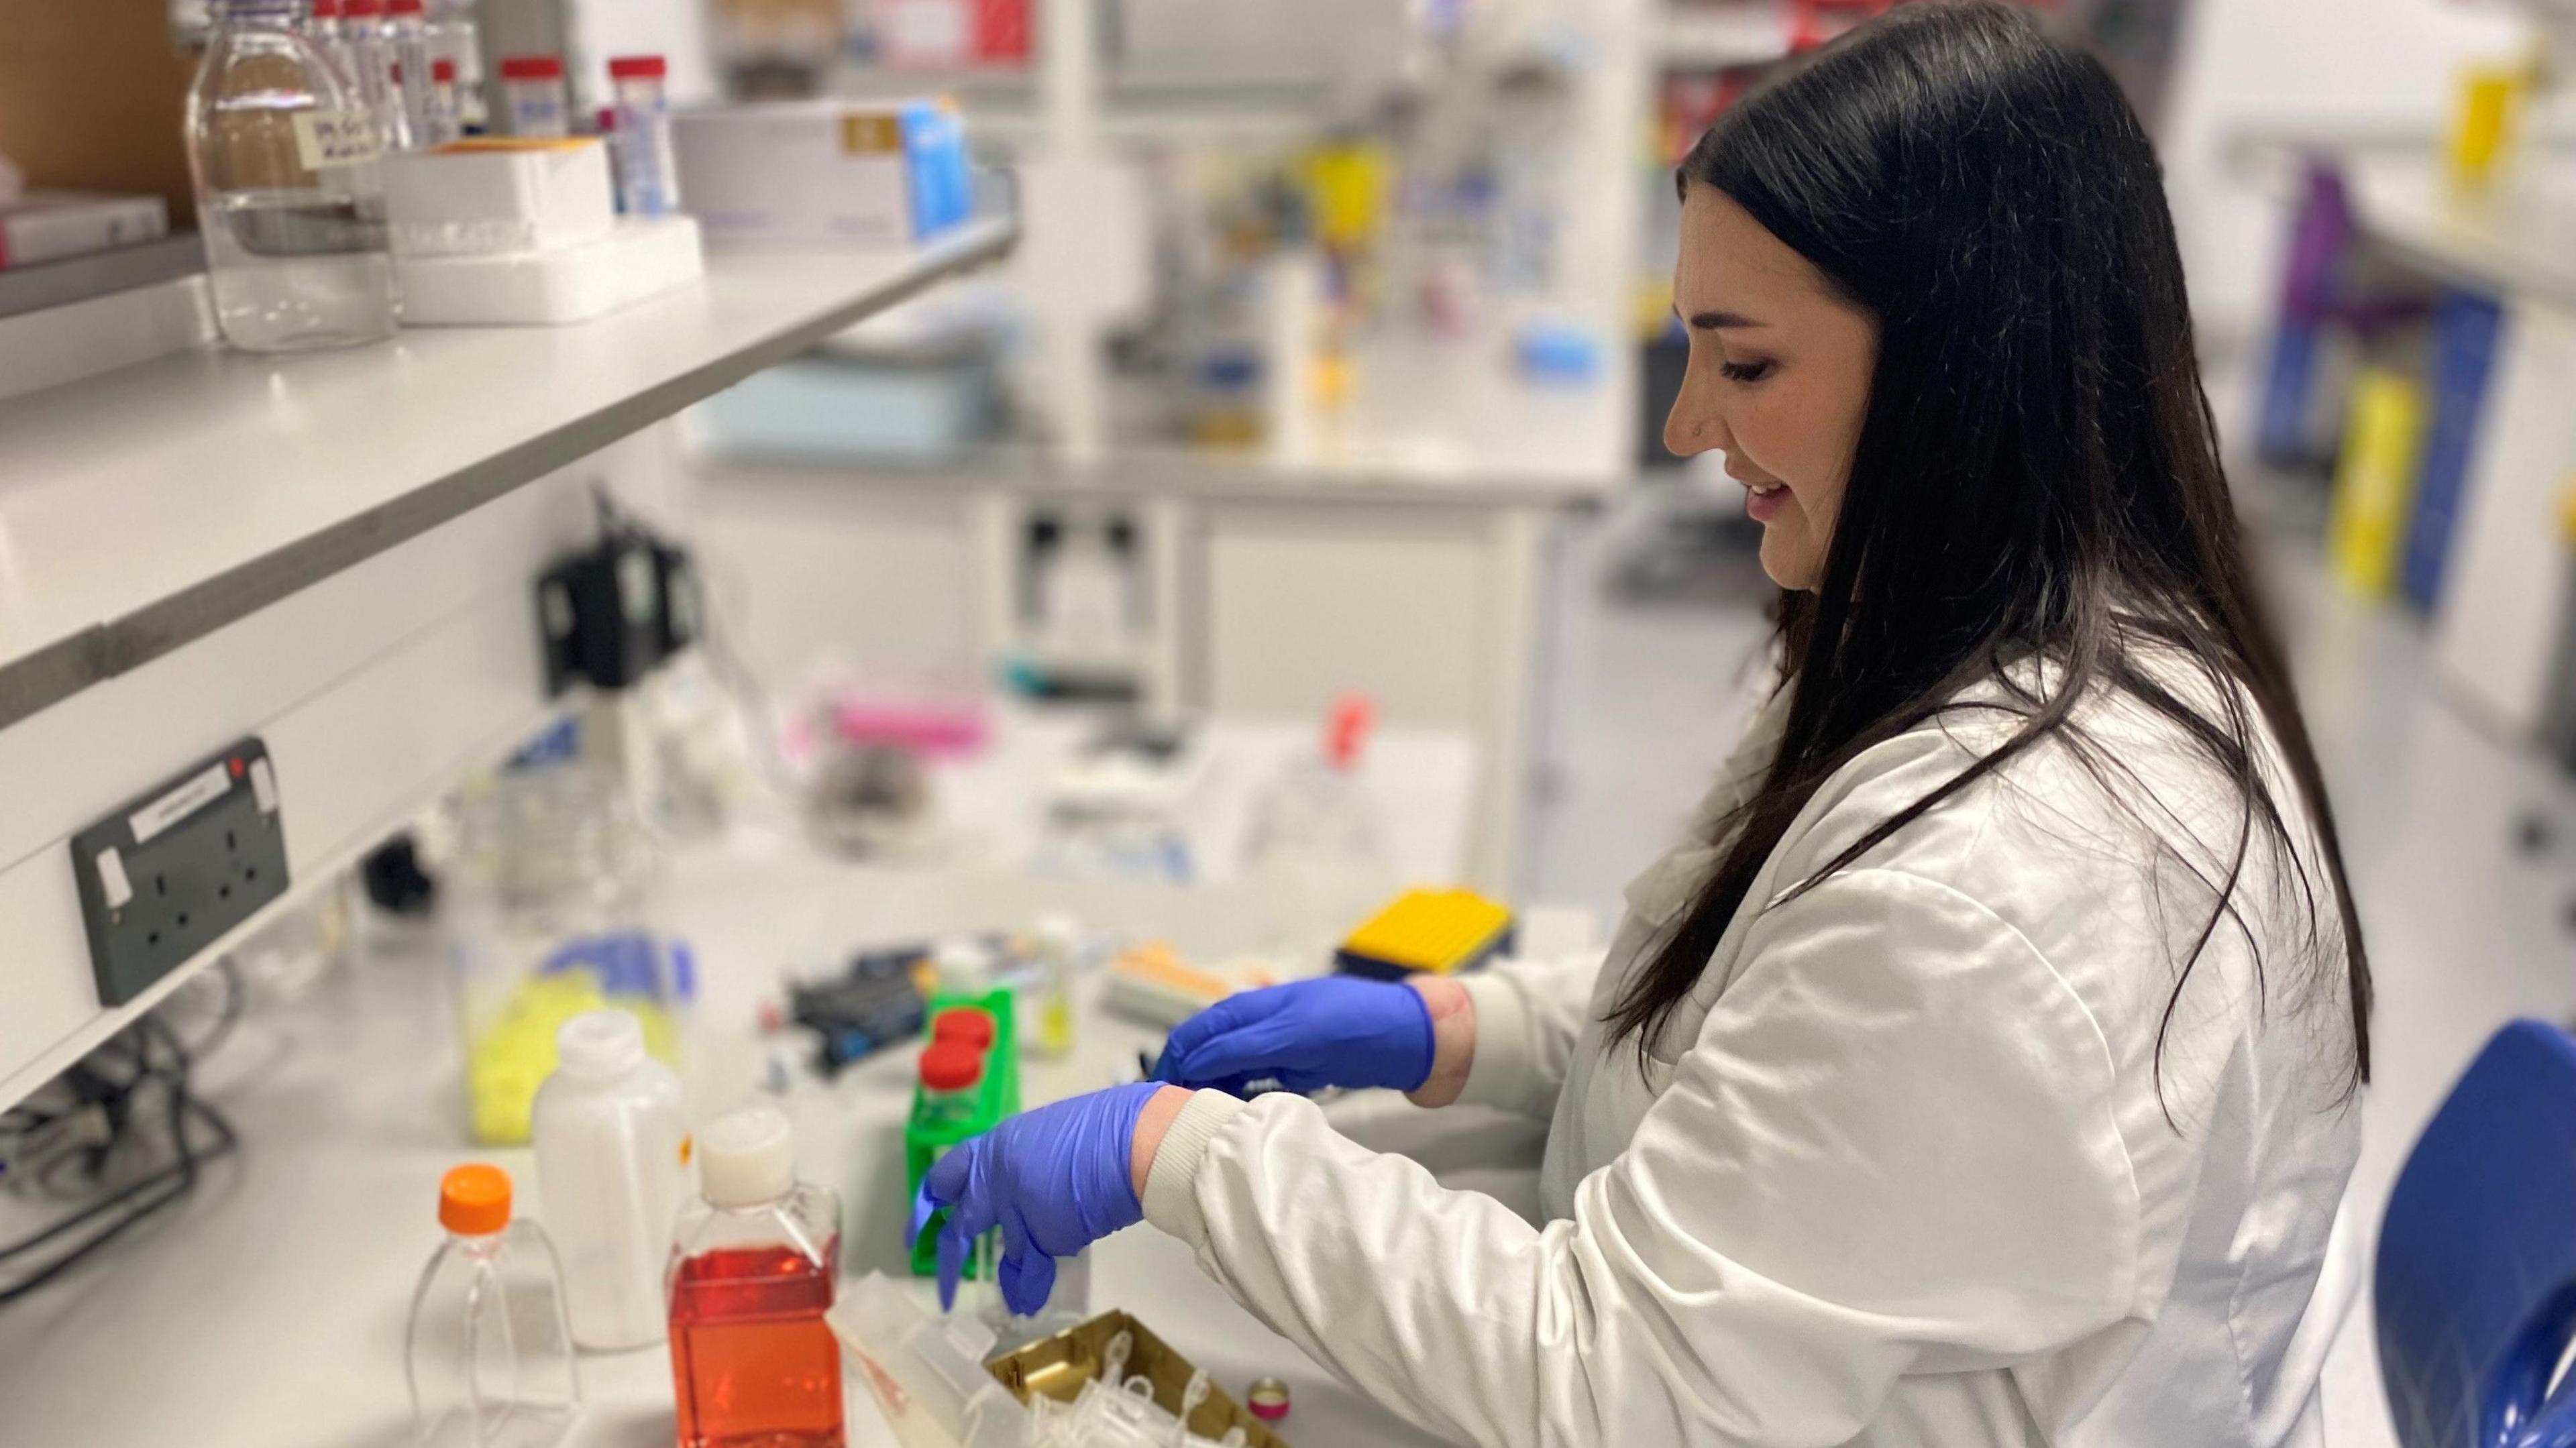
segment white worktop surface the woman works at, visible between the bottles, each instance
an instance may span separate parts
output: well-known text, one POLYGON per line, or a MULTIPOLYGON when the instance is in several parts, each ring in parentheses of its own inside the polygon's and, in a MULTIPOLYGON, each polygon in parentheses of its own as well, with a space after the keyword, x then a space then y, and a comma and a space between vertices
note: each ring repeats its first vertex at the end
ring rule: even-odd
MULTIPOLYGON (((1218 956, 1244 943, 1252 915, 1239 891, 889 871, 817 861, 783 843, 690 855, 670 899, 670 922, 701 961, 706 1113, 757 1098, 760 1049, 747 1023, 788 964, 940 930, 1025 925, 1043 910, 1218 956)), ((438 1244, 438 1175, 495 1159, 518 1183, 518 1201, 544 1216, 528 1152, 466 1144, 446 992, 435 958, 361 958, 312 1000, 245 1018, 201 1072, 240 1129, 242 1152, 216 1165, 170 1221, 0 1311, 0 1420, 10 1443, 407 1443, 402 1327, 438 1244)), ((1077 1054, 1025 1064, 1030 1105, 1110 1085, 1159 1041, 1103 1015, 1095 992, 1090 976, 1077 1054)), ((786 1098, 806 1177, 842 1196, 848 1270, 902 1257, 909 1072, 912 1051, 894 1049, 829 1085, 806 1077, 786 1098)), ((1350 1105, 1365 1113, 1383 1103, 1350 1105)), ((1394 1110, 1432 1121, 1401 1103, 1394 1110)), ((927 1283, 917 1291, 927 1299, 927 1283)), ((1136 1311, 1236 1394, 1255 1376, 1285 1378, 1296 1409, 1280 1427, 1291 1443, 1430 1443, 1260 1327, 1151 1226, 1095 1247, 1092 1306, 1136 1311)), ((580 1373, 587 1407, 574 1448, 672 1440, 667 1350, 585 1355, 580 1373)), ((845 1399, 853 1445, 891 1443, 855 1376, 845 1399)))

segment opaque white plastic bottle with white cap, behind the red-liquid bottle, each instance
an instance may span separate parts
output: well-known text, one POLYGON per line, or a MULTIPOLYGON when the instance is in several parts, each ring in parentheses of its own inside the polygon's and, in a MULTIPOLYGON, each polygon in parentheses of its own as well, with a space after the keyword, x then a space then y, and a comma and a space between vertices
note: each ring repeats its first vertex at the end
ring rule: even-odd
POLYGON ((536 1092, 536 1185, 564 1257, 572 1340, 592 1353, 659 1342, 685 1172, 680 1077, 613 1007, 567 1020, 554 1059, 536 1092))

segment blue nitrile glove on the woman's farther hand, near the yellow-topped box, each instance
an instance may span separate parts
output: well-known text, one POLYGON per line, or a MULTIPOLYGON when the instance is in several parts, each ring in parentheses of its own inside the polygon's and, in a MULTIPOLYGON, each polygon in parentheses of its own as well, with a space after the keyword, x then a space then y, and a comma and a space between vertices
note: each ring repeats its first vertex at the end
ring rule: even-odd
POLYGON ((1324 976, 1229 995, 1180 1023, 1157 1080, 1244 1095, 1275 1077, 1293 1092, 1414 1090, 1432 1074, 1432 1010, 1406 984, 1324 976))

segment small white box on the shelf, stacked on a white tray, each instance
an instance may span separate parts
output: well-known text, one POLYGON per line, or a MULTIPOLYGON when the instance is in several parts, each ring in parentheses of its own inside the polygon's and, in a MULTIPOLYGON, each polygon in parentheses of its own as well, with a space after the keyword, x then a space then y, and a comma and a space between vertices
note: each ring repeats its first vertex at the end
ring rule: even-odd
POLYGON ((471 258, 598 242, 618 224, 595 137, 474 137, 384 157, 394 252, 471 258))

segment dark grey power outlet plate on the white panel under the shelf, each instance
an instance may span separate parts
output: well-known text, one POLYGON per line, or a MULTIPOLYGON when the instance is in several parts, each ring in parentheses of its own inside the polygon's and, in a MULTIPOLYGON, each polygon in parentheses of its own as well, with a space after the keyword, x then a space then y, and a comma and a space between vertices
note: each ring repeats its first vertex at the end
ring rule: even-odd
POLYGON ((124 1005, 286 894, 268 745, 242 739, 72 835, 98 1002, 124 1005))

